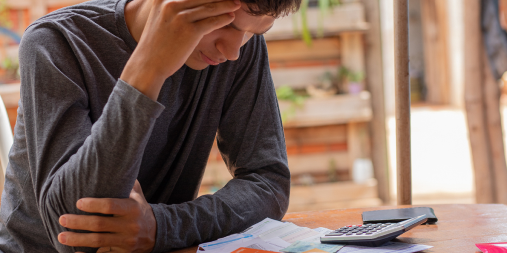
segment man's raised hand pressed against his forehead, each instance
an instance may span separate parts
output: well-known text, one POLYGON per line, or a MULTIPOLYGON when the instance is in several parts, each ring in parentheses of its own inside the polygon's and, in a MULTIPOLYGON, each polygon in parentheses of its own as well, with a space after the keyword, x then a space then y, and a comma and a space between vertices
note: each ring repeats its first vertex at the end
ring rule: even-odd
POLYGON ((202 37, 230 24, 240 7, 239 0, 154 0, 120 78, 157 100, 164 80, 185 64, 202 37))

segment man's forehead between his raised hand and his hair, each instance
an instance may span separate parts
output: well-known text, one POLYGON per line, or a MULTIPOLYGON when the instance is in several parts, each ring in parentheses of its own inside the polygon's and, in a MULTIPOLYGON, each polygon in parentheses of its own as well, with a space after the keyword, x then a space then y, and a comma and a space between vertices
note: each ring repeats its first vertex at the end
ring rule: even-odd
POLYGON ((235 18, 232 24, 242 31, 248 31, 252 33, 264 33, 266 32, 273 23, 275 18, 269 15, 254 16, 248 12, 248 7, 245 3, 241 3, 241 8, 234 12, 235 18))

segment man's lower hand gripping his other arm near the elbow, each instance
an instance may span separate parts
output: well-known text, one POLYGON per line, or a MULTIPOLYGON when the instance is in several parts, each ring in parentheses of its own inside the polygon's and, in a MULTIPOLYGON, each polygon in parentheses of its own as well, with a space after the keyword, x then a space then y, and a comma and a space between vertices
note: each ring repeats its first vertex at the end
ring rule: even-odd
POLYGON ((59 222, 65 228, 101 233, 62 232, 58 235, 60 243, 74 247, 98 247, 97 252, 141 253, 153 250, 157 222, 137 180, 129 198, 82 198, 76 206, 84 212, 113 217, 62 215, 59 222))

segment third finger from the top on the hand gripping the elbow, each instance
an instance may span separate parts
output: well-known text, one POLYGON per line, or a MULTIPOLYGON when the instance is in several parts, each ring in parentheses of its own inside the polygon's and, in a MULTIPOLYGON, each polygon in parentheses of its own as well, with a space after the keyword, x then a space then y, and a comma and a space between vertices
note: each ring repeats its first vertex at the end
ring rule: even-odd
POLYGON ((58 235, 58 241, 67 246, 94 248, 124 246, 126 244, 122 241, 121 236, 110 233, 61 232, 58 235))

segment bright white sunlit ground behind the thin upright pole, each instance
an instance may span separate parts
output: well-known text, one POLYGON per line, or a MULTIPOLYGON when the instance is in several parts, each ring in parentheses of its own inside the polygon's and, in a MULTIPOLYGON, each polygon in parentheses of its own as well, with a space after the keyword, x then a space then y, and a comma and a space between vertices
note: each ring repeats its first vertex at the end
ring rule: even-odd
MULTIPOLYGON (((503 113, 507 115, 507 110, 503 113)), ((441 106, 413 107, 411 125, 413 204, 474 203, 474 174, 464 111, 441 106)), ((388 119, 387 134, 395 204, 394 117, 388 119)))

